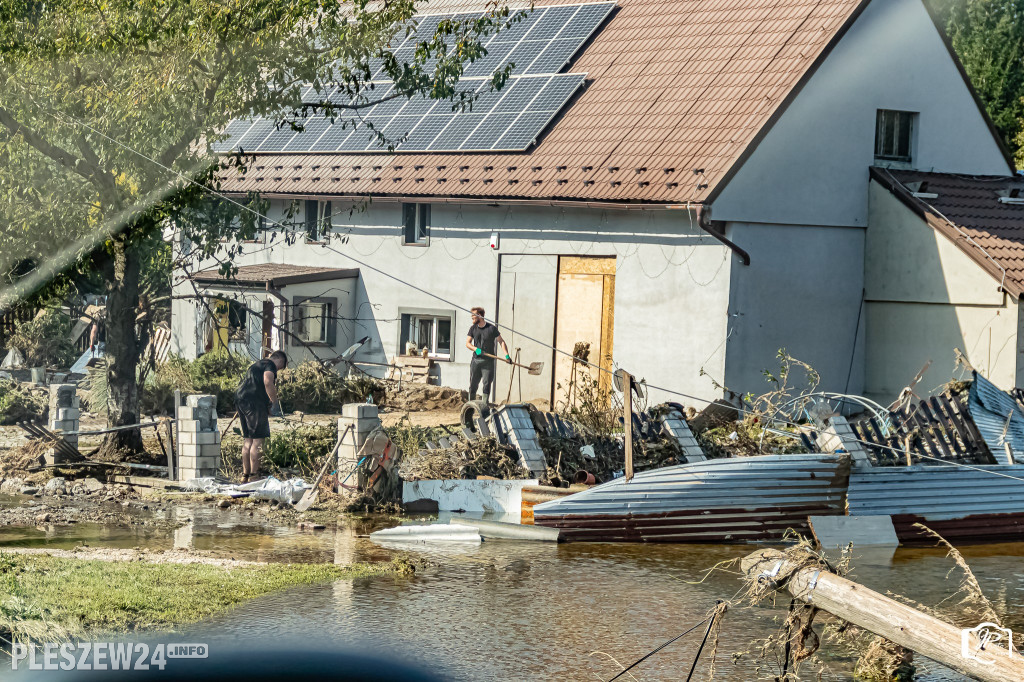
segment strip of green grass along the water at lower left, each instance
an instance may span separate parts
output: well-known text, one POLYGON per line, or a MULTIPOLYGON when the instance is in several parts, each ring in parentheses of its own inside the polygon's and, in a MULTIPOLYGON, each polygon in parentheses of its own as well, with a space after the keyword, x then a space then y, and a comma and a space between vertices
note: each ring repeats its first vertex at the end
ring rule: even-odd
POLYGON ((0 553, 0 631, 53 641, 163 630, 289 587, 410 570, 400 560, 222 567, 0 553))

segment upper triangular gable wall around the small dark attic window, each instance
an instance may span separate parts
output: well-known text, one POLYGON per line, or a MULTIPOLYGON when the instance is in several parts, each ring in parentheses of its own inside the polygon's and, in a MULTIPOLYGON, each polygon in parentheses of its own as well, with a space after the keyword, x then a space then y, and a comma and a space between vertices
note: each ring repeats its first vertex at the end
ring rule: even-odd
POLYGON ((714 218, 866 225, 880 109, 920 113, 914 168, 1013 172, 921 0, 871 0, 715 200, 714 218))

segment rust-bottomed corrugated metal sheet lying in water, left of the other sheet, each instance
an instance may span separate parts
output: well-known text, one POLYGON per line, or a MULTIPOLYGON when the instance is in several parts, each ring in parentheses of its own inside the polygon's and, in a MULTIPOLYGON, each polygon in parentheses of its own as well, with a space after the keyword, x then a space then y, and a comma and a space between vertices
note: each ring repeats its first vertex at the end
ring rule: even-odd
POLYGON ((848 457, 823 454, 682 464, 537 505, 534 520, 577 541, 770 540, 842 514, 849 471, 848 457))

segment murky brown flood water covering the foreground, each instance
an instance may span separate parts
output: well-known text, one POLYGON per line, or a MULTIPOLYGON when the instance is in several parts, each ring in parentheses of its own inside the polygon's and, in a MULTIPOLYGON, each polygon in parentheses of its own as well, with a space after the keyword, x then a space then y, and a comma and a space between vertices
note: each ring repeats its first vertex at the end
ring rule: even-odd
MULTIPOLYGON (((622 670, 614 660, 629 665, 702 620, 717 599, 732 598, 740 585, 734 572, 706 572, 757 549, 492 541, 399 550, 360 537, 395 524, 394 519, 346 519, 337 529, 300 531, 254 523, 245 512, 209 504, 154 513, 193 520, 174 531, 88 524, 50 530, 0 527, 0 549, 72 548, 84 542, 92 547, 191 547, 238 559, 338 564, 415 554, 429 565, 414 577, 295 588, 189 626, 174 639, 208 642, 211 647, 295 641, 380 651, 454 680, 607 680, 622 670)), ((1024 545, 963 551, 1004 625, 1024 631, 1024 545)), ((949 597, 959 572, 947 579, 952 563, 944 555, 939 549, 901 549, 891 557, 858 556, 853 578, 880 592, 955 613, 949 597)), ((787 605, 780 600, 775 608, 742 607, 726 613, 715 679, 770 679, 770 669, 759 674, 766 662, 756 654, 735 662, 732 654, 778 632, 787 605)), ((651 656, 632 671, 636 679, 685 679, 702 635, 703 628, 698 628, 651 656)), ((709 646, 694 679, 707 679, 710 653, 709 646)), ((852 679, 852 657, 828 648, 825 659, 823 679, 852 679)), ((924 659, 918 666, 921 680, 961 679, 924 659)), ((810 669, 803 670, 806 674, 810 669)))

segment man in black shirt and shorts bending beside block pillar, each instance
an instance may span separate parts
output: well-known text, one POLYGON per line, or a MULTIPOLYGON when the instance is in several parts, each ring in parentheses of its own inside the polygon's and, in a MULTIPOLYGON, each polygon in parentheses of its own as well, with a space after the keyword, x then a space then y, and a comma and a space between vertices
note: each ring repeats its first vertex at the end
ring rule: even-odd
POLYGON ((281 417, 278 371, 288 367, 288 355, 280 350, 253 363, 234 391, 234 407, 242 423, 242 482, 259 478, 259 456, 263 439, 270 436, 270 417, 281 417))

